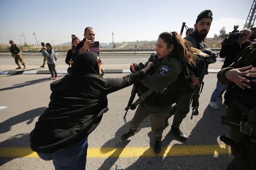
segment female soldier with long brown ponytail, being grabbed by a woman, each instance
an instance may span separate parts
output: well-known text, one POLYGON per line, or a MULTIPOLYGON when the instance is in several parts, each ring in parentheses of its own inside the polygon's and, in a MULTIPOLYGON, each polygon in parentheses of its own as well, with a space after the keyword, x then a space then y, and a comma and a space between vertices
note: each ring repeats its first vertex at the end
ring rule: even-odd
MULTIPOLYGON (((176 81, 180 70, 179 60, 195 66, 198 60, 197 55, 206 56, 200 50, 193 48, 188 41, 181 39, 177 32, 164 32, 159 35, 156 53, 151 54, 148 59, 148 62, 154 63, 153 69, 140 80, 146 89, 154 92, 138 106, 131 121, 130 131, 122 134, 121 140, 127 140, 133 136, 142 121, 149 115, 151 130, 155 136, 154 152, 161 151, 165 119, 169 117, 169 111, 172 108, 170 102, 172 96, 168 96, 168 92, 167 94, 161 94, 161 92, 176 81)), ((135 72, 136 65, 132 64, 131 69, 135 72)), ((140 89, 139 86, 138 94, 140 89)))

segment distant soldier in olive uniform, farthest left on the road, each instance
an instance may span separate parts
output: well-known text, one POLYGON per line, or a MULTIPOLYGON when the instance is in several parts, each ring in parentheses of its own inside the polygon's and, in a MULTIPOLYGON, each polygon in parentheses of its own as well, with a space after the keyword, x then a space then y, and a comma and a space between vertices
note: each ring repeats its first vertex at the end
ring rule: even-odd
POLYGON ((21 55, 22 50, 21 50, 20 46, 16 45, 13 40, 10 40, 9 43, 11 44, 9 51, 11 51, 12 56, 14 57, 15 63, 18 65, 18 68, 16 68, 16 69, 21 69, 19 61, 24 66, 23 70, 26 69, 26 64, 21 55))

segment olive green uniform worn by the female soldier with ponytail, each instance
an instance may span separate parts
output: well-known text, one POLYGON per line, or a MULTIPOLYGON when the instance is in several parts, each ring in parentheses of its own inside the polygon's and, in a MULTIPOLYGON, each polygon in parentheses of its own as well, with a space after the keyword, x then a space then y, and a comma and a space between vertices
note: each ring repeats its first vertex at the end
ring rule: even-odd
POLYGON ((140 81, 147 89, 151 89, 154 92, 138 106, 130 125, 132 132, 135 132, 142 121, 149 115, 155 140, 161 141, 164 122, 169 116, 172 103, 161 103, 160 100, 163 95, 159 92, 177 80, 180 65, 177 59, 172 58, 175 55, 173 51, 168 56, 159 59, 156 54, 152 54, 148 59, 148 61, 154 63, 154 66, 140 81))

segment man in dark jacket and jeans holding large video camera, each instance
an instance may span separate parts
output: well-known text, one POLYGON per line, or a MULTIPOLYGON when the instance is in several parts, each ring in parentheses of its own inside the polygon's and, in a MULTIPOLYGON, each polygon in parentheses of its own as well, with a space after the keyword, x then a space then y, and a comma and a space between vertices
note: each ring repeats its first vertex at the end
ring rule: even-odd
MULTIPOLYGON (((231 44, 226 44, 225 42, 228 37, 225 37, 222 40, 222 47, 220 50, 219 56, 221 58, 225 58, 225 61, 221 67, 221 69, 228 67, 230 64, 233 63, 235 57, 242 52, 247 46, 251 45, 253 42, 250 42, 248 39, 250 38, 251 35, 251 30, 249 29, 243 29, 239 31, 239 33, 243 33, 243 37, 238 37, 237 41, 231 44)), ((219 81, 217 81, 216 88, 212 93, 209 105, 213 109, 219 109, 217 106, 217 97, 220 93, 223 93, 222 91, 225 89, 225 85, 221 84, 219 81)))

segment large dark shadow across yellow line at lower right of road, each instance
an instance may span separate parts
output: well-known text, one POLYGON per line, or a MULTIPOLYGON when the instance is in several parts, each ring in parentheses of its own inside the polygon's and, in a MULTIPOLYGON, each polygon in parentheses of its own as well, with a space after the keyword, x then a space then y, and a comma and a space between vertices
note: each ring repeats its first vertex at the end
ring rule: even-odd
MULTIPOLYGON (((181 144, 174 144, 167 155, 172 155, 173 152, 177 152, 175 146, 185 145, 218 145, 218 138, 222 134, 228 134, 228 128, 221 125, 221 116, 225 115, 226 106, 222 105, 222 100, 218 101, 219 110, 214 110, 210 106, 207 106, 203 112, 202 118, 198 121, 196 126, 192 129, 191 134, 188 136, 188 140, 181 144)), ((191 116, 189 113, 187 116, 191 116)), ((200 113, 199 113, 200 114, 200 113)), ((202 113, 201 113, 202 114, 202 113)), ((184 122, 183 122, 184 124, 184 122)), ((166 128, 165 130, 170 128, 166 128)), ((152 134, 149 134, 150 136, 152 134)), ((154 137, 150 137, 150 146, 153 146, 154 137)), ((185 155, 185 156, 168 156, 163 157, 167 146, 170 145, 172 140, 178 140, 170 131, 162 140, 162 151, 156 155, 156 157, 144 157, 147 152, 153 152, 152 148, 146 150, 136 162, 131 166, 126 167, 126 170, 133 169, 192 169, 205 170, 205 169, 226 169, 228 163, 232 160, 232 156, 229 154, 217 154, 215 151, 208 155, 185 155), (159 168, 161 167, 161 168, 159 168)), ((182 142, 182 141, 180 141, 182 142)), ((228 147, 228 146, 226 146, 228 147)), ((220 148, 225 152, 226 148, 220 148)), ((192 153, 193 154, 193 153, 192 153)))

